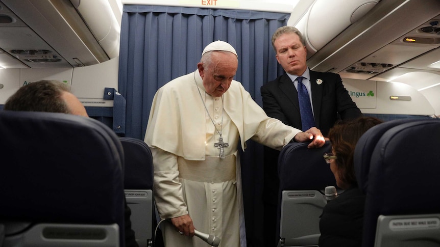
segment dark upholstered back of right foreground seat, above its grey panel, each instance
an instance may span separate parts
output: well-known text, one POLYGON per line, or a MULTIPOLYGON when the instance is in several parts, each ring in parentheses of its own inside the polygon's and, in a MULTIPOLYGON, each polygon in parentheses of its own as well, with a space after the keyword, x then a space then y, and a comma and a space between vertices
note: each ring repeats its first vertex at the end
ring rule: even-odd
MULTIPOLYGON (((374 245, 379 215, 438 213, 440 208, 440 121, 415 120, 385 127, 370 129, 378 140, 358 157, 370 157, 369 170, 362 168, 364 181, 368 181, 363 183, 362 246, 374 245)), ((356 147, 356 152, 362 151, 356 147)))

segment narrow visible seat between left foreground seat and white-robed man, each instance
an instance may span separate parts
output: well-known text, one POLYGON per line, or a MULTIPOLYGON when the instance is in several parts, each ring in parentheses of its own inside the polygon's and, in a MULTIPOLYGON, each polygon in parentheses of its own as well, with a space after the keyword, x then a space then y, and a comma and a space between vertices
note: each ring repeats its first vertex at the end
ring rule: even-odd
POLYGON ((131 209, 132 229, 140 247, 153 246, 153 156, 143 141, 119 138, 125 154, 124 189, 131 209))

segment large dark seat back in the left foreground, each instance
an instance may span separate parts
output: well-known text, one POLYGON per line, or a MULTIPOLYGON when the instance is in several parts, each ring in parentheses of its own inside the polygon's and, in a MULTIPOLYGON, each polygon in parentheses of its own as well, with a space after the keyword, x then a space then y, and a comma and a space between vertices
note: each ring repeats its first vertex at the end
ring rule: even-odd
POLYGON ((0 246, 125 245, 124 153, 110 128, 2 111, 0 136, 0 246))

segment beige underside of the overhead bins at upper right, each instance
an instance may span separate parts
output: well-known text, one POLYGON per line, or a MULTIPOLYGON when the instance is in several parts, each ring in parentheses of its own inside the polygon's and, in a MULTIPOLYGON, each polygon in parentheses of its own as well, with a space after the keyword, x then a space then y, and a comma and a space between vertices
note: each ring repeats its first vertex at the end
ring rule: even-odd
MULTIPOLYGON (((350 77, 348 75, 350 70, 359 74, 359 70, 363 67, 366 68, 366 77, 362 79, 369 79, 414 57, 407 56, 406 60, 398 60, 396 52, 389 52, 396 50, 397 46, 400 49, 405 48, 404 45, 412 45, 412 48, 404 49, 402 54, 407 50, 411 52, 421 50, 423 53, 426 52, 426 49, 423 51, 426 46, 429 46, 428 50, 435 48, 435 44, 410 44, 403 42, 403 39, 412 32, 415 32, 416 36, 435 35, 422 34, 418 30, 439 14, 438 0, 381 1, 369 11, 368 15, 348 26, 317 50, 308 58, 307 64, 312 70, 341 73, 343 77, 350 77), (379 60, 380 58, 386 59, 379 60)), ((332 22, 332 16, 329 16, 329 22, 332 22)), ((403 58, 402 54, 399 56, 403 58)))

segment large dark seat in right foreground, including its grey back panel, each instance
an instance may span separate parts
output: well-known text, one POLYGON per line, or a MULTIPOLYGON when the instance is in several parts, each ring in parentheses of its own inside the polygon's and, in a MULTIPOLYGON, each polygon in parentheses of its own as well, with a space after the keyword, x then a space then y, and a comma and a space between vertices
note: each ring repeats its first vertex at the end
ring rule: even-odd
MULTIPOLYGON (((355 150, 356 165, 371 156, 366 190, 363 247, 440 246, 440 121, 415 120, 389 128, 373 127, 364 135, 379 139, 355 150), (385 129, 385 131, 383 131, 385 129), (368 150, 368 152, 365 152, 368 150)), ((360 144, 360 145, 359 145, 360 144)))

